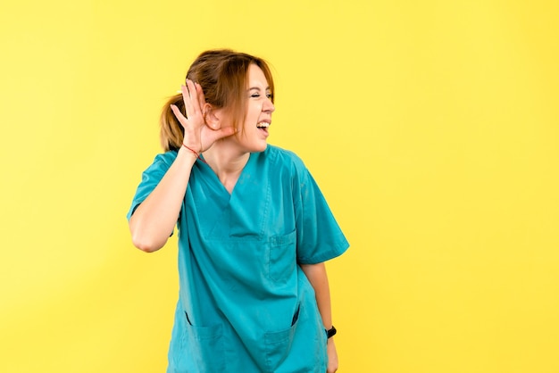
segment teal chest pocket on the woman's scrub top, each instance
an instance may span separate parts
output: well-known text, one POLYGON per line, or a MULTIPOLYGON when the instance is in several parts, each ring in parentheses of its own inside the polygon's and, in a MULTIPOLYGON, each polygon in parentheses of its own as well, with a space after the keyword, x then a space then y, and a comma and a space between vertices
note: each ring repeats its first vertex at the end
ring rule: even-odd
POLYGON ((296 230, 284 236, 271 236, 267 253, 268 278, 286 283, 296 271, 296 230))

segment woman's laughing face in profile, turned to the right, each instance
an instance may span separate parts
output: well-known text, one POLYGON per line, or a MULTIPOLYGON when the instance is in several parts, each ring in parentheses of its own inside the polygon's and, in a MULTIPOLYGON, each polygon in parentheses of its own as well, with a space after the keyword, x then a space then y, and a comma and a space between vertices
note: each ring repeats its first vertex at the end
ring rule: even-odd
POLYGON ((248 68, 246 96, 246 117, 237 136, 238 143, 246 152, 263 152, 267 146, 271 113, 275 108, 271 103, 268 81, 263 70, 255 64, 248 68))

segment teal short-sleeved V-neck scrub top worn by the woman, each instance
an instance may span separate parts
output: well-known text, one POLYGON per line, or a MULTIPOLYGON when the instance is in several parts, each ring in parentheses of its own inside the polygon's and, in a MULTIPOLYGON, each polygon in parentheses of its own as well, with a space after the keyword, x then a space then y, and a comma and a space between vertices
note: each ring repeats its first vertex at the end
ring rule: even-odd
MULTIPOLYGON (((177 156, 159 154, 129 211, 177 156)), ((196 161, 177 223, 179 303, 168 372, 326 371, 326 333, 299 264, 344 253, 345 236, 304 163, 268 145, 232 193, 196 161)))

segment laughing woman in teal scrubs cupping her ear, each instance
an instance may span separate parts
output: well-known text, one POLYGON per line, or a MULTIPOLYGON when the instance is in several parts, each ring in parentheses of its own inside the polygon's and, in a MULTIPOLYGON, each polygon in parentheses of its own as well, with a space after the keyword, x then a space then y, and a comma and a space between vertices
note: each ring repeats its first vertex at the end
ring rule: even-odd
POLYGON ((266 143, 268 65, 204 52, 181 91, 128 215, 146 252, 179 228, 168 372, 336 371, 324 261, 348 244, 304 163, 266 143))

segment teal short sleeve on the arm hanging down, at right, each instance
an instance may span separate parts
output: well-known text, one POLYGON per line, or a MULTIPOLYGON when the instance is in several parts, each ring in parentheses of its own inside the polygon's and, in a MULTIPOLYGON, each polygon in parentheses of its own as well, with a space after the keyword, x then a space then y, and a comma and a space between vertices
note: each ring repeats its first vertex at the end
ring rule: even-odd
POLYGON ((345 253, 349 244, 311 173, 296 167, 297 261, 315 264, 345 253))

